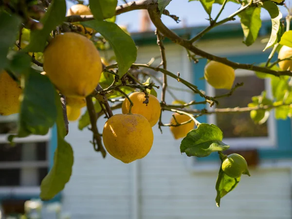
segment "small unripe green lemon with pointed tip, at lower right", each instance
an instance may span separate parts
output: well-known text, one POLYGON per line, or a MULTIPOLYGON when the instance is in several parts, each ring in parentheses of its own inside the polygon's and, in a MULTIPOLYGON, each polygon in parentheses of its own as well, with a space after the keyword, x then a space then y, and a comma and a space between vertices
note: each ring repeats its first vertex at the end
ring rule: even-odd
POLYGON ((222 170, 227 176, 232 178, 238 178, 241 174, 251 176, 248 171, 246 160, 239 154, 228 155, 222 162, 222 170))

